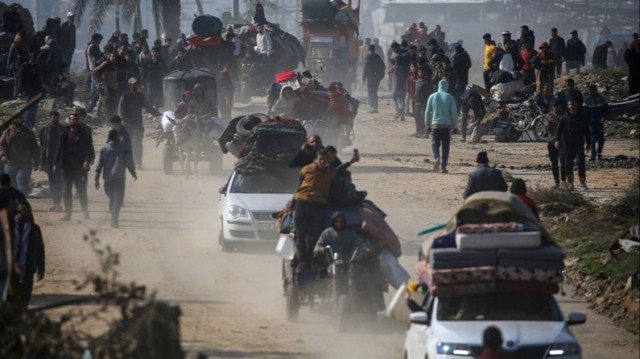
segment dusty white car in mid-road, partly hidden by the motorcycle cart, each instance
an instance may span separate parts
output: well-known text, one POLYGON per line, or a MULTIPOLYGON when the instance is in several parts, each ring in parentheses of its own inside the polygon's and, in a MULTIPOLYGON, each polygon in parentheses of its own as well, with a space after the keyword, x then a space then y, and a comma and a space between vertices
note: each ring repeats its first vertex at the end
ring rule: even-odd
POLYGON ((223 250, 231 250, 238 242, 275 243, 278 230, 271 214, 293 199, 298 173, 298 169, 285 168, 260 174, 231 174, 220 189, 218 206, 218 238, 223 250))

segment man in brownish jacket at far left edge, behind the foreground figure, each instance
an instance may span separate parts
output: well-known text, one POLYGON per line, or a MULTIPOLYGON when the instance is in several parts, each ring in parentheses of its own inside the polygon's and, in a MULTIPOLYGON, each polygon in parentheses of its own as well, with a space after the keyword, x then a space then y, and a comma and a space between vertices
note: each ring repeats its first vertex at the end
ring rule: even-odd
POLYGON ((22 118, 14 120, 0 137, 0 159, 11 182, 25 197, 29 195, 31 171, 40 164, 40 151, 33 131, 23 125, 22 118))

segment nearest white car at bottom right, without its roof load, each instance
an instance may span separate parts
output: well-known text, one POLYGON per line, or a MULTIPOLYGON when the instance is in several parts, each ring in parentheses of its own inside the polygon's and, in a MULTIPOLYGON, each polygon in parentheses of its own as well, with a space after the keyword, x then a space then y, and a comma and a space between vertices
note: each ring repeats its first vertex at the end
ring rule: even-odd
POLYGON ((500 329, 505 358, 580 359, 582 350, 568 326, 586 322, 583 313, 565 320, 552 295, 491 293, 440 300, 428 298, 425 312, 411 313, 404 357, 473 358, 482 333, 500 329))

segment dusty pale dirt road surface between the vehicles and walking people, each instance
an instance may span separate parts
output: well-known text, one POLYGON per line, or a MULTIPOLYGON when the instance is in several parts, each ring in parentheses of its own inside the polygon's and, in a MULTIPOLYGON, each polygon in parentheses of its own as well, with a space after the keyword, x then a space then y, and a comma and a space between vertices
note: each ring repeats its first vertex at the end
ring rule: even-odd
MULTIPOLYGON (((450 173, 434 173, 425 162, 432 158, 429 140, 409 137, 412 121, 393 121, 388 100, 382 101, 381 109, 380 114, 363 113, 357 119, 355 146, 362 160, 352 167, 354 182, 387 212, 389 223, 405 242, 401 261, 411 273, 420 241, 416 233, 452 215, 480 149, 489 151, 494 162, 515 166, 511 172, 530 186, 552 182, 550 173, 518 169, 545 163, 545 144, 498 144, 492 138, 472 146, 454 136, 450 173)), ((106 133, 106 127, 97 129, 96 143, 106 133)), ((637 156, 638 141, 607 142, 605 157, 618 154, 637 156)), ((232 163, 232 158, 225 159, 226 174, 232 163)), ((275 244, 225 253, 217 243, 218 188, 226 177, 205 175, 207 164, 200 166, 200 175, 189 179, 179 171, 165 175, 161 164, 161 150, 145 140, 145 170, 137 182, 127 182, 119 229, 109 227, 101 190, 89 189, 91 219, 80 222, 59 222, 60 213, 46 211, 49 200, 33 200, 45 238, 47 275, 36 284, 32 304, 74 295, 72 280, 97 270, 82 242, 83 233, 96 229, 103 242, 121 253, 123 279, 144 284, 157 290, 159 298, 180 305, 183 347, 189 357, 198 352, 211 358, 402 357, 405 328, 382 315, 376 323, 346 334, 338 333, 335 320, 306 311, 298 322, 287 322, 275 244)), ((588 194, 609 197, 622 191, 633 171, 637 168, 589 171, 588 194)), ((74 217, 82 216, 75 212, 74 217)), ((585 358, 639 357, 637 336, 594 314, 583 301, 571 296, 558 299, 565 313, 588 314, 587 324, 573 329, 585 358)))

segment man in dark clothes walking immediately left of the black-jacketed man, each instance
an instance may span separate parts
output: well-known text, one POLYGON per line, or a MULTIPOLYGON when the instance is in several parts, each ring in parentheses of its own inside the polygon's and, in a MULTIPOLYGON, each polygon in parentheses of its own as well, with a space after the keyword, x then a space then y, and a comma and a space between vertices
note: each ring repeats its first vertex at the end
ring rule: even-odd
POLYGON ((53 165, 60 147, 60 136, 65 127, 60 123, 58 111, 49 113, 49 124, 40 129, 40 169, 47 173, 53 207, 49 211, 62 212, 62 173, 54 173, 53 165))

